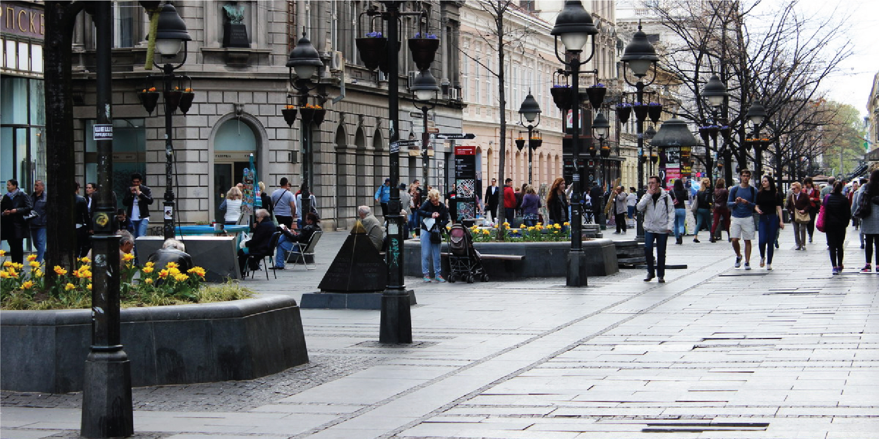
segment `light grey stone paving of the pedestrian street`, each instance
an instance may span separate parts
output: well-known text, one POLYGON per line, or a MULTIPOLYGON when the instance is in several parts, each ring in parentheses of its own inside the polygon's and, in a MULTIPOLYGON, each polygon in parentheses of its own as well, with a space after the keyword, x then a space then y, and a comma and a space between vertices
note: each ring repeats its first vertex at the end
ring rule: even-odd
MULTIPOLYGON (((781 236, 773 271, 759 268, 756 246, 745 271, 726 241, 685 238, 668 263, 688 268, 669 270, 666 284, 644 283, 643 270, 577 289, 563 278, 410 277, 412 345, 379 344, 378 311, 302 310, 311 363, 134 389, 135 436, 879 437, 879 274, 857 272, 853 229, 842 276, 831 275, 823 234, 806 252, 793 250, 789 227, 781 236)), ((323 237, 319 270, 244 282, 299 299, 344 239, 323 237)), ((76 437, 81 398, 3 392, 2 437, 76 437)))

